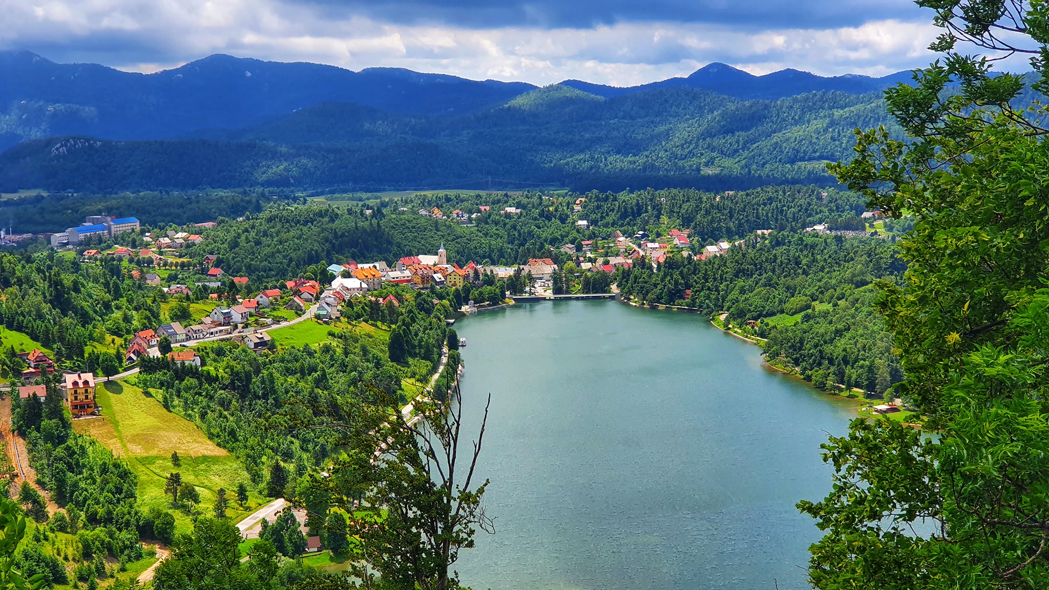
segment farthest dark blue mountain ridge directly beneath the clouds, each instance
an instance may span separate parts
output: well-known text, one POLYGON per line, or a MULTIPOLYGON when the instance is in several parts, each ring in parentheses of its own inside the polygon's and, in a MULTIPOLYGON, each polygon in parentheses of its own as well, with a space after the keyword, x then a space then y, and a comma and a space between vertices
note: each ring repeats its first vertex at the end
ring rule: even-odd
MULTIPOLYGON (((753 76, 710 64, 687 78, 629 88, 577 80, 562 85, 603 98, 687 87, 745 100, 775 100, 829 90, 859 94, 908 78, 909 72, 823 78, 797 70, 753 76)), ((22 141, 61 135, 199 136, 202 130, 256 126, 326 102, 411 115, 465 113, 535 89, 524 82, 475 81, 400 68, 351 71, 226 55, 143 75, 98 64, 59 64, 30 51, 7 50, 0 51, 0 151, 22 141)))

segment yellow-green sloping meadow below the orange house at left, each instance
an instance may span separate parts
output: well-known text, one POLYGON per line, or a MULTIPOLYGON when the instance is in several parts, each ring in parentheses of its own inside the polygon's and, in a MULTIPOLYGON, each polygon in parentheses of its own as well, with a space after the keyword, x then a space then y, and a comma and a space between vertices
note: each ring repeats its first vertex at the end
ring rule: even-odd
MULTIPOLYGON (((205 513, 214 504, 218 488, 224 487, 232 496, 237 484, 250 484, 248 472, 235 457, 208 440, 192 422, 164 409, 157 400, 138 387, 112 381, 98 387, 97 396, 102 405, 102 418, 77 420, 73 427, 128 460, 138 477, 138 503, 144 508, 170 508, 164 483, 172 471, 178 471, 183 481, 198 488, 201 501, 198 511, 205 513), (171 463, 172 451, 178 452, 178 467, 171 463)), ((235 509, 236 502, 232 502, 227 513, 237 522, 265 502, 251 491, 248 510, 235 509)), ((179 530, 192 526, 189 514, 177 510, 172 513, 179 530)))

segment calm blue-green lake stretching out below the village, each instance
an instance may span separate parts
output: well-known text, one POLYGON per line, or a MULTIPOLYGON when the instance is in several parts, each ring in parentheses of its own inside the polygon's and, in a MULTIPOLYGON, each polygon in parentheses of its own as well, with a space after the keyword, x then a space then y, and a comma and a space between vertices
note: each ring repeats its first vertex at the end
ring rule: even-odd
POLYGON ((475 590, 808 588, 819 458, 856 404, 764 365, 702 316, 615 301, 464 318, 464 415, 494 535, 455 566, 475 590), (483 481, 483 480, 481 480, 483 481))

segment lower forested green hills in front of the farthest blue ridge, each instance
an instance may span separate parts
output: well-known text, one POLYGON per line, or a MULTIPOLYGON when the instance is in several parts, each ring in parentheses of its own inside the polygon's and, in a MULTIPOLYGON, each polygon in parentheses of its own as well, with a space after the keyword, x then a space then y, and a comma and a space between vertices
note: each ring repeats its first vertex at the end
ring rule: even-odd
POLYGON ((825 163, 849 156, 853 130, 878 125, 892 127, 878 92, 746 101, 664 87, 604 98, 556 85, 468 113, 324 103, 197 139, 37 140, 0 156, 0 190, 826 185, 825 163))

